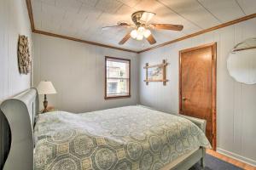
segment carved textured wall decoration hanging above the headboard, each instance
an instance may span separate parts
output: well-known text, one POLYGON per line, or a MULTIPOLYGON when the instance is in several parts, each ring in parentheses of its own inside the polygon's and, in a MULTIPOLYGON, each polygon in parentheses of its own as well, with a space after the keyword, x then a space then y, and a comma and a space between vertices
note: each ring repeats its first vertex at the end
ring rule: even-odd
POLYGON ((31 71, 31 55, 29 54, 28 37, 19 36, 18 62, 20 74, 28 74, 31 71))

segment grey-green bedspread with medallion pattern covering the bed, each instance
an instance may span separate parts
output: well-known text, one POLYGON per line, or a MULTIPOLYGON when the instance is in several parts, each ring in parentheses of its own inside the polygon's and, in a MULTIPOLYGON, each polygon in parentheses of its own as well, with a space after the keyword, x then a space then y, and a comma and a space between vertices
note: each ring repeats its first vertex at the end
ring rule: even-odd
POLYGON ((194 123, 142 106, 40 115, 34 169, 160 169, 199 146, 211 147, 194 123))

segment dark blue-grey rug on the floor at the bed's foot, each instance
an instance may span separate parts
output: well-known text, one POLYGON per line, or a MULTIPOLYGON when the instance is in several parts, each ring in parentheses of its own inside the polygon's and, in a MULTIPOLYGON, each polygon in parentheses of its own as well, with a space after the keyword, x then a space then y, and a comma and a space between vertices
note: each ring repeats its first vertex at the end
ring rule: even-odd
MULTIPOLYGON (((195 166, 191 167, 189 170, 199 170, 201 169, 200 163, 196 163, 195 166)), ((242 170, 240 167, 230 164, 229 162, 222 161, 216 157, 206 156, 206 167, 205 170, 242 170)))

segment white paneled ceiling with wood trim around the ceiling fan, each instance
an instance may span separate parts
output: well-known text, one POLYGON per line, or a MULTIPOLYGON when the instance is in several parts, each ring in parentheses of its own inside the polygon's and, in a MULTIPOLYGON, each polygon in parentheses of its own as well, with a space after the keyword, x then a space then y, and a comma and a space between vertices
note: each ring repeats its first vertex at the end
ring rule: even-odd
POLYGON ((31 4, 37 31, 132 51, 157 47, 256 13, 256 0, 31 0, 31 4), (132 23, 131 14, 137 10, 154 12, 154 23, 183 25, 183 31, 152 31, 157 41, 153 46, 132 38, 120 46, 127 30, 102 31, 102 26, 120 20, 132 23))

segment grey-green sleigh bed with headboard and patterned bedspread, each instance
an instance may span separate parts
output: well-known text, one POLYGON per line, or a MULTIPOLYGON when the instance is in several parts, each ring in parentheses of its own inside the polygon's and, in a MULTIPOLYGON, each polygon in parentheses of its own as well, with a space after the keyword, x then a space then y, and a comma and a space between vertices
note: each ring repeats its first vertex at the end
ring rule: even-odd
POLYGON ((38 116, 32 88, 4 101, 1 110, 12 133, 6 170, 189 169, 197 161, 203 166, 211 147, 205 121, 142 105, 38 116))

